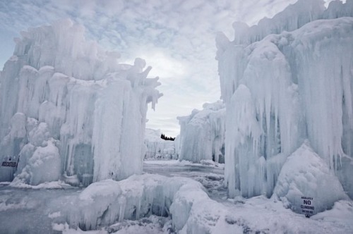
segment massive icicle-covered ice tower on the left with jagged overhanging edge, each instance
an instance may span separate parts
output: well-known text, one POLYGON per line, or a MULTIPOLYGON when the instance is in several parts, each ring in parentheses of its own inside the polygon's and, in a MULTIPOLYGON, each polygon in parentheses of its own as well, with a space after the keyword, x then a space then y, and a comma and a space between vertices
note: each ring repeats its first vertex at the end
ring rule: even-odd
MULTIPOLYGON (((20 157, 16 183, 71 184, 142 172, 145 116, 162 95, 151 67, 86 41, 71 20, 30 28, 1 73, 0 160, 20 157)), ((1 167, 0 180, 13 168, 1 167)))

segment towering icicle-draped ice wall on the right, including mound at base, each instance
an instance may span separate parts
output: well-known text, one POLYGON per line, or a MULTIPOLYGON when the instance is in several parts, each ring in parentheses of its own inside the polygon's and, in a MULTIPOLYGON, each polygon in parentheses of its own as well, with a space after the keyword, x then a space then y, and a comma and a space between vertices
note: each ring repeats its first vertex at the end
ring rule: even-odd
POLYGON ((217 35, 230 196, 353 197, 352 16, 352 0, 299 0, 217 35))

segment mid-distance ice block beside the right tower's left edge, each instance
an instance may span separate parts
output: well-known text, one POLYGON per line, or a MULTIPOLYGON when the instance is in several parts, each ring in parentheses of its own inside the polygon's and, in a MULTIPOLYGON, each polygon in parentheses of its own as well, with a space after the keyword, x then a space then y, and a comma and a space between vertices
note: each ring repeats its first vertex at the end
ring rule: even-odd
POLYGON ((180 125, 180 160, 203 159, 224 162, 225 105, 222 101, 203 104, 190 116, 178 117, 180 125))

